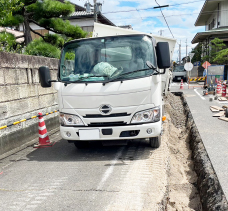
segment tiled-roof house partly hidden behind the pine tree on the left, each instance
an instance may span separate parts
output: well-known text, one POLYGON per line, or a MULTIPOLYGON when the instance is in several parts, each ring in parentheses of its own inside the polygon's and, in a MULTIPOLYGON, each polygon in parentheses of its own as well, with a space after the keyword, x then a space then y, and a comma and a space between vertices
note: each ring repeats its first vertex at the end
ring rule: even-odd
MULTIPOLYGON (((64 0, 58 0, 60 2, 64 2, 64 0)), ((77 4, 72 3, 75 6, 75 12, 68 17, 68 20, 71 22, 72 25, 78 25, 80 26, 84 31, 87 32, 93 32, 94 28, 94 13, 93 12, 86 12, 86 9, 84 7, 81 7, 77 4)), ((98 23, 115 26, 114 23, 112 23, 108 18, 106 18, 104 15, 99 13, 97 15, 97 21, 98 23)), ((30 27, 35 30, 36 32, 45 35, 47 33, 53 33, 49 32, 48 30, 37 26, 36 24, 30 23, 30 27)), ((23 31, 23 26, 20 26, 20 31, 23 31)), ((39 35, 34 34, 31 32, 32 39, 39 38, 39 35)))

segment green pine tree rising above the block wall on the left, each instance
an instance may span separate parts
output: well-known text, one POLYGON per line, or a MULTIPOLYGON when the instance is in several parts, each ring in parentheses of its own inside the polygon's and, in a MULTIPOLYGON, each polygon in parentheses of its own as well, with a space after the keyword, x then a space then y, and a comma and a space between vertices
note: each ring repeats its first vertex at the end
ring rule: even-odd
MULTIPOLYGON (((69 1, 62 3, 58 0, 0 0, 0 2, 0 6, 2 6, 0 8, 0 25, 18 27, 22 24, 26 46, 32 41, 31 32, 41 37, 39 41, 31 44, 33 48, 36 48, 37 45, 37 50, 43 49, 44 46, 47 47, 47 43, 49 43, 49 47, 51 45, 57 48, 62 47, 63 38, 56 34, 65 35, 66 39, 83 38, 87 34, 79 26, 73 26, 69 20, 66 20, 67 16, 75 10, 69 1), (42 35, 31 28, 31 23, 56 34, 42 35), (60 42, 60 40, 62 41, 60 42), (62 44, 60 45, 60 43, 62 44), (41 45, 43 45, 42 48, 41 45)), ((32 52, 31 48, 26 52, 32 52)), ((38 51, 36 51, 37 54, 39 55, 38 51)))

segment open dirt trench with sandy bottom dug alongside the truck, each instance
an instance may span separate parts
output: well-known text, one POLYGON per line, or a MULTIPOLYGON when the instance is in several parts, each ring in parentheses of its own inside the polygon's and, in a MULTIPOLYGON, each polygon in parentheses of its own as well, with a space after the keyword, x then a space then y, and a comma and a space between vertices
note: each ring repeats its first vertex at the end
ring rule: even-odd
POLYGON ((163 140, 169 149, 167 211, 228 210, 216 173, 182 93, 165 98, 163 140))

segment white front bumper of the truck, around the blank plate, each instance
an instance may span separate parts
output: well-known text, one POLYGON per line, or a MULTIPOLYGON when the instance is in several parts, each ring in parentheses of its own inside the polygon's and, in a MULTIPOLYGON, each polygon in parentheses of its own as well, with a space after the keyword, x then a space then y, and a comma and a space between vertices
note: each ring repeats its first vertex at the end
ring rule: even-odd
MULTIPOLYGON (((161 135, 162 122, 140 124, 140 125, 126 125, 126 126, 113 126, 113 127, 64 127, 60 126, 60 133, 63 139, 71 141, 80 141, 79 130, 93 130, 99 129, 99 139, 88 139, 88 141, 103 141, 103 140, 123 140, 123 139, 138 139, 138 138, 150 138, 161 135), (150 134, 147 133, 148 129, 152 129, 150 134), (104 135, 103 129, 112 129, 111 135, 104 135), (138 131, 133 136, 122 137, 124 131, 138 131), (69 133, 71 134, 69 137, 69 133), (67 135, 68 134, 68 135, 67 135)), ((128 132, 124 132, 128 134, 128 132)), ((87 141, 87 140, 81 140, 87 141)))

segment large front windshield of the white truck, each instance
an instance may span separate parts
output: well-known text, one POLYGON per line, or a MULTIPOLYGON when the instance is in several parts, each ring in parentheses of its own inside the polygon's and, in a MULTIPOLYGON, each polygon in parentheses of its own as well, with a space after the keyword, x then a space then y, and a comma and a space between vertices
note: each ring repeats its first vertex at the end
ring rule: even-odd
POLYGON ((154 71, 147 67, 147 61, 157 66, 153 42, 145 35, 80 40, 63 49, 60 78, 69 82, 103 82, 146 77, 154 71))

